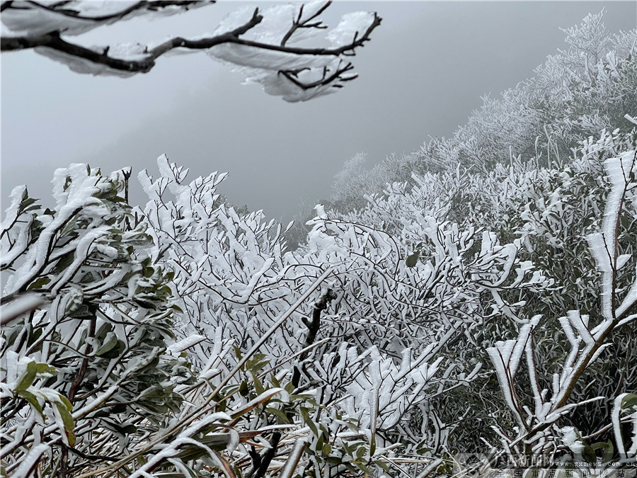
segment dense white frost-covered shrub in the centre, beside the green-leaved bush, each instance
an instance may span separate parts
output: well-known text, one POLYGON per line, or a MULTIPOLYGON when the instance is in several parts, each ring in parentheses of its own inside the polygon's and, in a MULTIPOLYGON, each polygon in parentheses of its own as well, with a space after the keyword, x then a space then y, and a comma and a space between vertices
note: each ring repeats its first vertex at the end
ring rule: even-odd
MULTIPOLYGON (((437 421, 432 397, 476 378, 480 364, 465 356, 462 344, 470 335, 464 328, 478 328, 483 318, 515 309, 500 297, 506 288, 542 283, 529 263, 519 261, 519 243, 500 244, 495 234, 427 214, 409 224, 406 220, 400 234, 388 234, 363 222, 330 218, 317 207, 306 246, 286 251, 280 224, 265 222, 261 212, 238 213, 218 202, 223 176, 187 182, 187 170, 165 157, 158 164, 157 178, 140 175, 150 201, 138 216, 156 238, 156 259, 175 271, 171 287, 183 310, 180 334, 206 337, 193 348, 195 363, 209 363, 210 351, 222 339, 247 353, 323 271, 330 271, 326 286, 334 297, 311 341, 304 341, 313 315, 307 303, 294 309, 259 350, 259 360, 268 362, 275 376, 259 376, 258 389, 307 390, 301 409, 287 409, 285 423, 309 426, 313 458, 307 466, 318 467, 317 473, 326 466, 334 472, 354 466, 352 457, 384 463, 384 453, 444 446, 449 427, 423 438, 422 423, 413 426, 427 410, 429 422, 437 421), (311 351, 302 351, 305 346, 311 351), (404 377, 379 368, 400 369, 404 377), (387 400, 379 409, 369 402, 369 387, 387 400), (328 423, 328 416, 340 418, 328 423), (344 438, 348 427, 356 431, 344 438), (396 440, 400 447, 386 448, 396 440), (352 450, 361 451, 352 455, 352 450)), ((214 365, 219 372, 211 383, 221 383, 221 370, 230 370, 236 360, 224 355, 214 365)), ((255 380, 237 375, 231 383, 241 389, 255 380)), ((251 398, 235 394, 228 403, 244 406, 251 398)), ((263 428, 273 419, 278 420, 267 413, 246 415, 243 426, 263 428)), ((287 435, 273 432, 270 440, 275 436, 277 443, 286 443, 287 435)))

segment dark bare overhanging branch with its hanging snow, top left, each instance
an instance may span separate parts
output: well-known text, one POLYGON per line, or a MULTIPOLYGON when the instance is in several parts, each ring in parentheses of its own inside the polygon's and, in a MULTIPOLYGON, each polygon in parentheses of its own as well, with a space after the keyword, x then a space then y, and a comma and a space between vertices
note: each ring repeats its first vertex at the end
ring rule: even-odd
POLYGON ((331 4, 279 4, 240 8, 210 34, 195 38, 168 38, 142 45, 84 47, 69 40, 93 28, 135 16, 178 13, 213 4, 212 1, 11 1, 2 6, 2 50, 34 48, 40 55, 66 64, 78 73, 132 76, 149 72, 166 52, 205 50, 266 93, 285 101, 307 101, 333 93, 356 78, 348 57, 369 41, 381 19, 376 13, 343 16, 326 35, 331 47, 290 46, 315 40, 327 28, 320 15, 331 4))

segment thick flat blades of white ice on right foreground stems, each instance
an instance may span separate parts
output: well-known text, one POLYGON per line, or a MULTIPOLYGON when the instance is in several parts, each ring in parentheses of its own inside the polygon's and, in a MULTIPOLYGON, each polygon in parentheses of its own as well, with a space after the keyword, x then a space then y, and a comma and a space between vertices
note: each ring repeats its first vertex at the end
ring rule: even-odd
MULTIPOLYGON (((618 131, 614 135, 618 135, 618 131)), ((633 131, 634 135, 634 131, 633 131)), ((606 138, 595 145, 589 147, 587 154, 592 155, 599 152, 604 147, 606 138)), ((634 143, 633 143, 634 145, 634 143)), ((503 432, 501 436, 506 443, 506 448, 512 450, 515 446, 524 440, 526 446, 532 446, 533 453, 546 453, 547 448, 553 447, 551 426, 558 419, 569 414, 575 407, 586 404, 587 402, 595 402, 612 397, 590 397, 580 400, 579 402, 570 402, 569 399, 573 394, 580 376, 585 369, 590 368, 592 364, 604 353, 604 349, 612 346, 608 341, 608 337, 612 332, 619 329, 625 324, 634 323, 637 314, 630 314, 637 305, 637 300, 631 292, 622 293, 618 286, 617 258, 620 257, 618 227, 620 217, 625 215, 624 203, 631 203, 634 191, 637 189, 637 181, 635 176, 635 157, 634 149, 621 152, 619 157, 612 157, 604 161, 604 169, 609 181, 609 190, 603 215, 602 224, 599 232, 590 234, 587 237, 589 249, 595 258, 596 266, 602 272, 599 280, 599 296, 601 298, 599 310, 599 322, 597 324, 590 323, 590 317, 581 314, 578 310, 570 310, 566 312, 566 317, 561 317, 559 323, 563 328, 566 337, 570 343, 571 351, 568 357, 563 360, 561 374, 553 374, 553 387, 548 395, 549 389, 542 389, 539 381, 538 368, 536 366, 536 352, 534 351, 533 339, 529 325, 536 328, 539 316, 534 317, 529 324, 525 324, 520 329, 517 339, 506 342, 496 343, 495 348, 488 348, 495 370, 500 380, 500 387, 503 389, 507 406, 517 417, 520 428, 517 430, 515 439, 506 438, 503 432), (621 295, 626 298, 621 302, 621 295), (622 309, 618 309, 621 304, 622 309), (627 316, 627 317, 626 317, 627 316), (522 351, 527 353, 527 370, 529 373, 529 382, 531 383, 534 394, 534 412, 528 407, 522 406, 520 399, 515 393, 515 373, 520 364, 520 356, 522 351), (550 397, 550 398, 549 398, 550 397)), ((637 216, 634 210, 631 211, 631 220, 634 222, 637 216)), ((629 256, 627 254, 624 257, 629 256)), ((628 258, 626 260, 629 260, 628 258)), ((637 280, 633 276, 633 280, 637 280)), ((634 286, 633 286, 634 287, 634 286)), ((622 384, 623 385, 623 384, 622 384)), ((614 433, 616 443, 619 446, 619 459, 622 461, 631 460, 624 451, 624 438, 619 432, 619 409, 621 407, 621 399, 625 394, 620 394, 615 399, 616 417, 614 418, 614 433), (619 400, 619 402, 618 402, 619 400)), ((630 415, 629 415, 630 416, 630 415)), ((629 419, 629 416, 626 419, 629 419)), ((574 453, 583 453, 585 445, 581 440, 575 443, 573 438, 575 428, 566 427, 564 442, 574 453), (570 438, 569 438, 570 437, 570 438), (577 446, 575 446, 577 445, 577 446)))

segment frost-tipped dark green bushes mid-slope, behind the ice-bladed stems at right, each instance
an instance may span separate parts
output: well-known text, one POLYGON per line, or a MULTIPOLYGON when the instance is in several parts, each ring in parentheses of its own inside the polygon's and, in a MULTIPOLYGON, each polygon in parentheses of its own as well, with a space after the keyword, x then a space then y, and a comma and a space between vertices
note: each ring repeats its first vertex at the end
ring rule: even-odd
MULTIPOLYGON (((539 167, 536 161, 515 159, 512 164, 496 165, 488 173, 457 166, 439 173, 413 175, 411 184, 386 185, 383 195, 368 197, 369 204, 364 210, 341 217, 389 232, 399 244, 411 244, 411 250, 415 250, 407 257, 411 261, 430 254, 427 241, 416 242, 411 238, 423 215, 436 217, 440 222, 454 218, 462 229, 474 228, 479 232, 488 228, 497 232, 500 240, 513 241, 520 263, 533 264, 537 278, 544 280, 535 287, 513 285, 485 300, 486 307, 494 307, 493 314, 486 320, 476 319, 475 324, 469 321, 464 328, 468 338, 461 344, 471 350, 465 355, 473 354, 472 358, 488 362, 486 348, 495 346, 502 338, 517 336, 518 324, 541 314, 544 317, 541 332, 536 331, 541 338, 534 344, 537 358, 533 367, 540 376, 561 374, 562 360, 571 348, 562 320, 558 319, 568 317, 567 312, 573 309, 587 314, 591 324, 603 319, 603 295, 599 292, 602 272, 596 267, 587 237, 602 227, 604 210, 609 210, 607 202, 613 197, 613 183, 604 164, 613 158, 630 157, 636 147, 634 129, 628 133, 616 130, 602 132, 599 139, 590 138, 580 144, 561 168, 547 169, 539 167), (500 300, 515 307, 497 309, 500 300)), ((629 163, 624 166, 629 181, 634 172, 626 165, 629 163)), ((637 244, 637 214, 633 186, 626 186, 621 204, 616 221, 616 254, 622 267, 614 275, 614 281, 616 290, 626 291, 635 280, 632 264, 637 244)), ((634 327, 634 322, 623 324, 621 330, 627 334, 607 338, 613 352, 604 349, 597 360, 583 368, 578 384, 589 385, 574 386, 569 397, 573 403, 584 403, 569 409, 568 415, 561 417, 561 426, 573 426, 585 437, 594 436, 604 427, 609 429, 614 397, 621 392, 619 384, 621 387, 631 384, 627 390, 637 384, 630 345, 634 327), (592 397, 607 398, 587 402, 592 397)), ((510 409, 507 411, 506 403, 493 397, 499 394, 495 377, 489 375, 488 368, 483 371, 486 373, 468 387, 432 401, 435 410, 442 412, 443 423, 461 420, 462 426, 450 436, 455 449, 484 450, 483 440, 492 445, 498 442, 488 425, 509 430, 516 426, 515 415, 510 409)), ((520 380, 515 396, 532 400, 530 382, 527 378, 520 380)), ((606 431, 598 436, 600 440, 613 439, 606 431)))

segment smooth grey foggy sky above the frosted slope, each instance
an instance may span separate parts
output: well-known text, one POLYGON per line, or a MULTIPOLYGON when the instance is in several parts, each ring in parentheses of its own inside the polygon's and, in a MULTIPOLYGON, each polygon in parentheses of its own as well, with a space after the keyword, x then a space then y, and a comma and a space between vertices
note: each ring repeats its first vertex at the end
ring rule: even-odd
MULTIPOLYGON (((103 27, 82 41, 200 35, 246 3, 272 2, 219 1, 103 27)), ((374 164, 451 135, 480 96, 515 86, 566 47, 560 27, 602 7, 611 32, 636 27, 636 1, 338 1, 325 16, 330 25, 348 11, 383 18, 354 58, 360 77, 294 104, 242 85, 202 52, 161 57, 129 79, 80 75, 34 52, 9 52, 1 57, 1 199, 23 183, 49 197, 54 169, 74 162, 156 175, 156 158, 166 153, 190 167, 191 179, 228 171, 223 191, 233 203, 289 219, 303 201, 310 209, 328 198, 333 176, 357 152, 374 164)), ((132 202, 140 203, 134 186, 132 202)))

